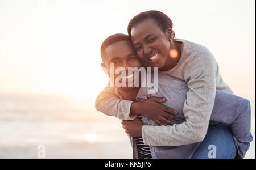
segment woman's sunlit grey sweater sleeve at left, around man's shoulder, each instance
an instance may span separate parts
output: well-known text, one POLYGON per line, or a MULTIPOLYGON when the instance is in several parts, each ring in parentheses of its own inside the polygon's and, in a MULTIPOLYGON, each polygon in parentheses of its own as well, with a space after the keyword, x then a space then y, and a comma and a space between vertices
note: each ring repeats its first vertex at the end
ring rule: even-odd
POLYGON ((105 87, 95 101, 95 108, 108 116, 114 116, 122 120, 134 120, 137 115, 130 115, 133 101, 122 100, 115 96, 115 88, 105 87))

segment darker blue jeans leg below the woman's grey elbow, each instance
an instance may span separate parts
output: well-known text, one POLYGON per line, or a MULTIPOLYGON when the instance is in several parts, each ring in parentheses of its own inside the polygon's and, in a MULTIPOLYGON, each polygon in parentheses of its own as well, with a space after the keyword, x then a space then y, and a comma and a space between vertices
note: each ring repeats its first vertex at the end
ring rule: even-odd
POLYGON ((204 141, 200 143, 192 159, 234 159, 236 153, 230 125, 220 123, 209 126, 204 141))

